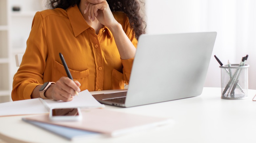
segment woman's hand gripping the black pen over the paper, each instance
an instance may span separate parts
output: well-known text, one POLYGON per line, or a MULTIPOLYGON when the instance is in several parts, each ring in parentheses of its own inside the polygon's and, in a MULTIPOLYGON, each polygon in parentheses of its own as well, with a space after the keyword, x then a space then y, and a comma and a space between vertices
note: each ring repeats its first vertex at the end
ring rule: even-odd
POLYGON ((68 77, 61 77, 56 84, 51 85, 46 90, 45 96, 53 98, 53 100, 62 100, 65 102, 72 101, 75 96, 75 91, 80 92, 81 84, 78 81, 73 81, 68 77))

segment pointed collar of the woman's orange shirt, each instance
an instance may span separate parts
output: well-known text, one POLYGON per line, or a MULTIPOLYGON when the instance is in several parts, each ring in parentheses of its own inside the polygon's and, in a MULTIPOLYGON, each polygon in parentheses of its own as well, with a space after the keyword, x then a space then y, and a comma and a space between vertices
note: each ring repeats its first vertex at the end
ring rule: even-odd
MULTIPOLYGON (((69 7, 67 9, 67 14, 68 14, 68 17, 69 17, 69 20, 70 20, 70 23, 71 23, 71 26, 72 26, 75 37, 80 35, 86 29, 91 27, 84 20, 84 18, 82 16, 79 8, 77 7, 77 5, 75 5, 74 7, 72 7, 72 6, 69 7)), ((104 28, 108 32, 109 37, 112 38, 113 34, 109 30, 109 28, 106 27, 106 26, 104 26, 104 28)))

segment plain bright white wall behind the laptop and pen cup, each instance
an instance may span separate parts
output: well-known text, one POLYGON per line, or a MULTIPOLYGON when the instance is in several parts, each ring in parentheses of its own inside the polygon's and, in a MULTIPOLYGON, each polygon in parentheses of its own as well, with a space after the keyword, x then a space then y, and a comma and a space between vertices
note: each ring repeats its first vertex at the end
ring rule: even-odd
POLYGON ((256 89, 256 2, 254 0, 145 0, 147 33, 186 33, 216 31, 205 87, 221 87, 220 68, 223 64, 240 63, 249 55, 249 88, 256 89), (255 25, 255 26, 253 26, 255 25), (255 58, 254 58, 255 57, 255 58))

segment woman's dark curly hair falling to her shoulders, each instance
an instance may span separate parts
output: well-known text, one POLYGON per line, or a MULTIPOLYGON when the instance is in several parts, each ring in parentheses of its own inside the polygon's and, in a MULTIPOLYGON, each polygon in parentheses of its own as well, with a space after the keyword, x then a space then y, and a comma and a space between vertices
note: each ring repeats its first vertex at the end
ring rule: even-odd
MULTIPOLYGON (((67 9, 70 6, 79 5, 80 0, 49 0, 49 8, 62 8, 67 9)), ((106 0, 111 11, 124 12, 129 18, 131 27, 135 32, 138 39, 141 34, 145 33, 146 22, 140 13, 140 3, 138 0, 106 0)))

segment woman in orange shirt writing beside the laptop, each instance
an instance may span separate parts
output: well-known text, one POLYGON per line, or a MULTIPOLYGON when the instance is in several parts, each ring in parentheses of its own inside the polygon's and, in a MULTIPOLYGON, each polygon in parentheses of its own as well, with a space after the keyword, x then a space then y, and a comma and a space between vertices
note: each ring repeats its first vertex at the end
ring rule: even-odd
POLYGON ((144 33, 139 2, 50 2, 55 9, 34 16, 26 52, 14 75, 12 100, 71 101, 76 91, 122 89, 128 84, 137 39, 144 33), (59 53, 74 81, 67 77, 59 53))

